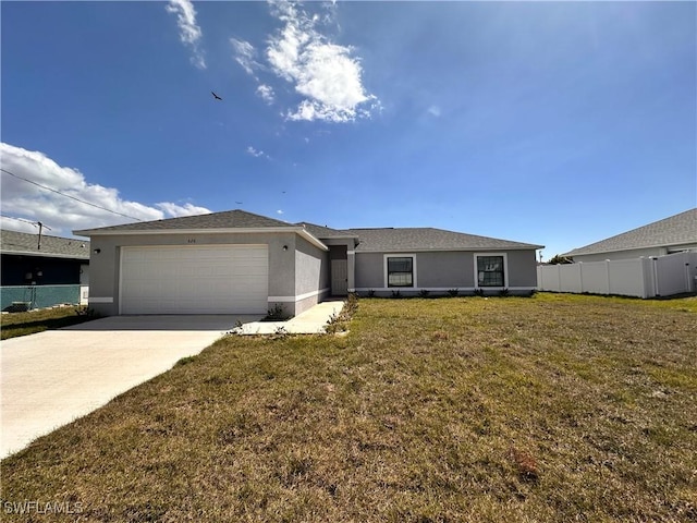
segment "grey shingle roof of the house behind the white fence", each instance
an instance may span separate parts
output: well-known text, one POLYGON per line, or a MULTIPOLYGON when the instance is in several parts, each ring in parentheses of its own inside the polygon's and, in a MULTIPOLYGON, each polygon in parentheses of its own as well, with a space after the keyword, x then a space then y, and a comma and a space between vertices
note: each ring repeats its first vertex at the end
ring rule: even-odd
POLYGON ((697 243, 697 208, 591 243, 585 247, 574 248, 564 256, 668 247, 690 243, 697 243))

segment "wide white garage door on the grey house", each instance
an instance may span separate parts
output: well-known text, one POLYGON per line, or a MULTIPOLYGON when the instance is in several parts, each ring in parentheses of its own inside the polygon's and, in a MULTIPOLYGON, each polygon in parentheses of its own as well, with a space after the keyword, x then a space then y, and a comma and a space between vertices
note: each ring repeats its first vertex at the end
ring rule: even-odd
POLYGON ((121 314, 260 314, 266 245, 123 247, 121 314))

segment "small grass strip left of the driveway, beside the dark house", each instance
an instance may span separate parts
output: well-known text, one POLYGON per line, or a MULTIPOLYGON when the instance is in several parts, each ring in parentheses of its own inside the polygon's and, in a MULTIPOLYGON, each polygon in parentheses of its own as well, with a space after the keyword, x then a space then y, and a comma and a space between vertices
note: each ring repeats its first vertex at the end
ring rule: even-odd
POLYGON ((81 307, 56 307, 26 313, 9 313, 0 315, 0 339, 34 335, 44 330, 60 329, 82 324, 94 317, 78 315, 81 307))

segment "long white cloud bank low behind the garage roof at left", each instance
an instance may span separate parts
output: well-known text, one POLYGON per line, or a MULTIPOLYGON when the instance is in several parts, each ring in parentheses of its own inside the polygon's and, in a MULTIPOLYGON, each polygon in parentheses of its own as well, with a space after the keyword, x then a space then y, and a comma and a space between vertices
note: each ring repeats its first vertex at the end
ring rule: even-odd
MULTIPOLYGON (((0 143, 0 154, 2 169, 70 196, 2 173, 2 214, 28 221, 40 221, 51 228, 50 233, 53 235, 71 235, 76 229, 210 212, 205 207, 191 203, 179 205, 161 202, 148 206, 125 200, 119 196, 117 188, 88 183, 77 169, 59 166, 40 151, 0 143)), ((1 223, 2 228, 7 229, 29 232, 33 230, 30 224, 16 220, 2 218, 1 223)))

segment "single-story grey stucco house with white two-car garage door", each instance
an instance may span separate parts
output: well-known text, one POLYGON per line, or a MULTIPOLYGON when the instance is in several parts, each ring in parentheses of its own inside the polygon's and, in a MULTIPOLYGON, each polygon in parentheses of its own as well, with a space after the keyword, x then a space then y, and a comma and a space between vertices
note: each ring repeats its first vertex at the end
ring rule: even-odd
POLYGON ((118 314, 296 315, 330 295, 530 293, 541 245, 440 229, 335 230, 243 210, 74 231, 89 305, 118 314))

